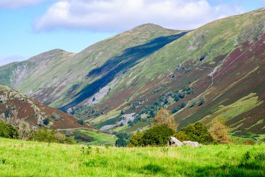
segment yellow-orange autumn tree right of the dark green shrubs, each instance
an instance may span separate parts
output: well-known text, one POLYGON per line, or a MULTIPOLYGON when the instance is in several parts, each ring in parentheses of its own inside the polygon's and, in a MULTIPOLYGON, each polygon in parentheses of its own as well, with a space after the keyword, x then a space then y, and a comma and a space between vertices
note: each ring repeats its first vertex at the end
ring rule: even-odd
POLYGON ((210 125, 211 135, 218 141, 220 144, 229 144, 231 139, 229 138, 229 127, 226 126, 226 121, 224 119, 218 119, 210 125))

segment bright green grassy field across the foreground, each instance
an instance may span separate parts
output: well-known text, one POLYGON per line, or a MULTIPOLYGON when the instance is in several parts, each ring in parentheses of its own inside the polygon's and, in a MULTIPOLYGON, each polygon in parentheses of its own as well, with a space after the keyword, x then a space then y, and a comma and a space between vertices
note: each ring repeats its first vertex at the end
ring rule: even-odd
POLYGON ((0 139, 0 176, 264 176, 265 145, 115 148, 0 139), (244 159, 249 151, 250 159, 244 159))

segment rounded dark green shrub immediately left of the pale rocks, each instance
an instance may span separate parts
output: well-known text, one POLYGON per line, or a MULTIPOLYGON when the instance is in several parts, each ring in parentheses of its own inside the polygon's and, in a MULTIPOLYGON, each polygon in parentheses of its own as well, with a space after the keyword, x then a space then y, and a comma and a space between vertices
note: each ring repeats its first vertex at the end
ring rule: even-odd
POLYGON ((165 146, 175 131, 167 125, 157 125, 147 129, 142 137, 144 146, 165 146))

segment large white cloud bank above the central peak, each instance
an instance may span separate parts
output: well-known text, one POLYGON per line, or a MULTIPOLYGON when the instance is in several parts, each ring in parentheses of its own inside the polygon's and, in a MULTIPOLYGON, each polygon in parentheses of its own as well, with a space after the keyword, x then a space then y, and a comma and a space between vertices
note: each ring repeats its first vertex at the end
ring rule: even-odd
POLYGON ((122 31, 144 23, 194 29, 212 20, 242 13, 239 7, 210 6, 207 0, 64 0, 37 18, 34 30, 122 31))

